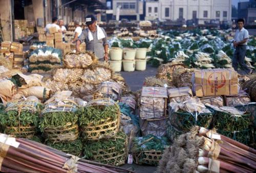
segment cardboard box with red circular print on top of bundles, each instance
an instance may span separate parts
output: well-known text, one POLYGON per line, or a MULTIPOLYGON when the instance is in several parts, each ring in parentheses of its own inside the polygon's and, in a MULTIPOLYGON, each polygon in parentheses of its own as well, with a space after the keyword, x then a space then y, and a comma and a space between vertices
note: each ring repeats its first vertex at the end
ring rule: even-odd
POLYGON ((197 97, 238 94, 238 73, 233 69, 195 70, 193 79, 197 97))

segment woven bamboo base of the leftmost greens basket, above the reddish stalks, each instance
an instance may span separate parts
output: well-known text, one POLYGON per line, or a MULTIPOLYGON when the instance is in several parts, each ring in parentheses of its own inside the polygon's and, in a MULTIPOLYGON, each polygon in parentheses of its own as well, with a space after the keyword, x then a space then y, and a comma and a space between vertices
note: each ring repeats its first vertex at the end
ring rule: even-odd
POLYGON ((5 133, 18 138, 32 138, 36 132, 35 126, 6 127, 5 133))

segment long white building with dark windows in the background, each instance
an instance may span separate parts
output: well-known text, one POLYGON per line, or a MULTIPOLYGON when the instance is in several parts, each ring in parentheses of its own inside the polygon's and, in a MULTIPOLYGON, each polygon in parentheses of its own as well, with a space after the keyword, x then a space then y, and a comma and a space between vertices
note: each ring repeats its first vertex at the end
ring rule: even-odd
POLYGON ((231 20, 231 0, 146 0, 146 19, 231 20))

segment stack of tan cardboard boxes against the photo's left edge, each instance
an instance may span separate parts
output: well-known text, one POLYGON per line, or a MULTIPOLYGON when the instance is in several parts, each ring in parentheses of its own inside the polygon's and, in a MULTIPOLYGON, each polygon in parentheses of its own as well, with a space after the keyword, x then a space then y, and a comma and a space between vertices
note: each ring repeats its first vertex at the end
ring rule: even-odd
POLYGON ((23 45, 19 42, 4 41, 0 49, 0 66, 11 69, 21 69, 24 66, 25 54, 23 45))

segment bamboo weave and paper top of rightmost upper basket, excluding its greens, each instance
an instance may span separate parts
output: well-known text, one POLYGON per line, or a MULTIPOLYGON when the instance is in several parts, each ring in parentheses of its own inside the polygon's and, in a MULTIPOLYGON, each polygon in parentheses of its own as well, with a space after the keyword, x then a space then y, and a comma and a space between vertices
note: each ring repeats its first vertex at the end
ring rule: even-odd
MULTIPOLYGON (((116 105, 119 107, 116 102, 111 99, 95 99, 88 103, 87 106, 94 105, 116 105)), ((90 123, 87 126, 81 127, 82 137, 86 140, 99 140, 99 139, 109 139, 118 132, 119 124, 120 124, 120 111, 118 111, 117 119, 111 120, 110 118, 101 120, 99 125, 94 125, 94 123, 90 123)))

